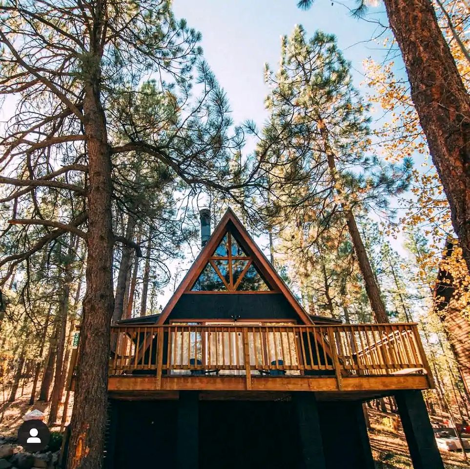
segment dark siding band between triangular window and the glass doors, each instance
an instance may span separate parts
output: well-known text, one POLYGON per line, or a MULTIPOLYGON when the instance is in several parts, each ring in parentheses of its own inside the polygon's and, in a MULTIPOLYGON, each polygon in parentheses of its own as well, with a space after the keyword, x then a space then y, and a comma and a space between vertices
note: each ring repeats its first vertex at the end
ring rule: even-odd
POLYGON ((286 319, 298 316, 282 293, 184 293, 168 320, 176 319, 286 319))

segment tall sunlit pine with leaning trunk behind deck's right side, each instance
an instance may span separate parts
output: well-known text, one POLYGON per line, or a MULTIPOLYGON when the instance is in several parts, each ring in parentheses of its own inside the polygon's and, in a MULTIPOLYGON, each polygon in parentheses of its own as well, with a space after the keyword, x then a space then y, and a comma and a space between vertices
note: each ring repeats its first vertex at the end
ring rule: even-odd
POLYGON ((355 212, 386 209, 387 197, 406 189, 410 161, 396 168, 368 155, 367 107, 334 37, 317 32, 307 40, 297 26, 283 39, 280 70, 267 69, 267 81, 272 91, 266 141, 277 141, 275 161, 283 168, 282 182, 279 173, 271 175, 282 188, 279 205, 309 206, 316 212, 310 218, 323 229, 335 216, 345 220, 375 318, 388 322, 355 212))

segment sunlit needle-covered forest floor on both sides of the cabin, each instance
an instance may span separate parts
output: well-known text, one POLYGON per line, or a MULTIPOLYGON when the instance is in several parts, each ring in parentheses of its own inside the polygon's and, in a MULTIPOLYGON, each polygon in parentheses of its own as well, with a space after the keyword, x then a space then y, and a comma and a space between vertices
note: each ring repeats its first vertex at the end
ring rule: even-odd
MULTIPOLYGON (((13 403, 6 402, 9 390, 0 389, 0 436, 16 436, 18 427, 22 422, 22 416, 31 410, 38 409, 45 414, 44 421, 47 422, 49 403, 36 401, 29 405, 32 384, 26 384, 22 390, 18 390, 17 400, 13 403)), ((73 394, 68 406, 68 419, 72 414, 73 394)), ((62 415, 62 407, 59 409, 59 421, 62 415)), ((412 468, 409 459, 408 445, 401 425, 393 429, 390 425, 392 414, 368 409, 371 429, 369 430, 372 453, 376 461, 377 469, 402 469, 412 468)), ((68 422, 67 422, 68 423, 68 422)), ((60 422, 51 430, 59 431, 60 422)), ((470 453, 467 453, 470 459, 470 453)), ((446 469, 470 468, 470 464, 462 459, 459 452, 441 451, 442 459, 446 469)))

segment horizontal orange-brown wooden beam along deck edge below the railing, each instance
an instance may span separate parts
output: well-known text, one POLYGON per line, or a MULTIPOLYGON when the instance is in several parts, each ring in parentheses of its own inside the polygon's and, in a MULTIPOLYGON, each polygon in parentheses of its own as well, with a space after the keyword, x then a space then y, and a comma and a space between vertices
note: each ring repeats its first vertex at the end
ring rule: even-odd
MULTIPOLYGON (((285 377, 252 376, 251 391, 313 391, 334 393, 384 393, 399 389, 429 389, 427 376, 358 376, 344 377, 342 390, 335 377, 285 377)), ((247 391, 245 376, 163 376, 161 383, 154 376, 110 376, 108 390, 112 393, 126 391, 247 391), (160 384, 160 386, 159 386, 160 384)))

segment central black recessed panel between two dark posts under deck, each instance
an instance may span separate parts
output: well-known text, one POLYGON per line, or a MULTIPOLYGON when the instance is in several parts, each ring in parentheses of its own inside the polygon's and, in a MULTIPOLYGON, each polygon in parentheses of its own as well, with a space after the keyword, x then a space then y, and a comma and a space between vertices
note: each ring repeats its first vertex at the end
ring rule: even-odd
POLYGON ((303 468, 290 402, 201 401, 200 469, 303 468))

